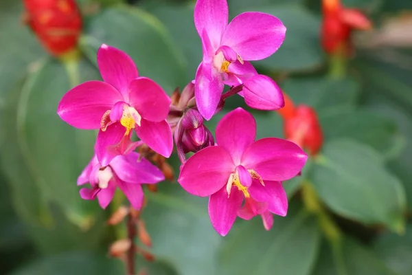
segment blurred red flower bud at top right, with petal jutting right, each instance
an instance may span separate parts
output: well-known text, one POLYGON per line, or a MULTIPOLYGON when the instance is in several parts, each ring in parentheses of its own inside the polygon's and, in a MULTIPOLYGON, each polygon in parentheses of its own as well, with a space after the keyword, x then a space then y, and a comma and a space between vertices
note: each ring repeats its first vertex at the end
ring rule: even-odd
POLYGON ((369 30, 371 22, 354 9, 344 8, 339 0, 322 1, 321 44, 328 54, 352 52, 352 30, 369 30))

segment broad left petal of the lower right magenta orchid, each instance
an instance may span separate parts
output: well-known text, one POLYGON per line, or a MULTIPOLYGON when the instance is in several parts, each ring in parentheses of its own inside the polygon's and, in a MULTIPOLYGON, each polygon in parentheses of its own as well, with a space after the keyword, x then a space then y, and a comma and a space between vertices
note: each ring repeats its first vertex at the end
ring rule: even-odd
POLYGON ((224 148, 209 146, 187 159, 178 181, 190 194, 205 197, 226 186, 234 170, 232 159, 224 148))

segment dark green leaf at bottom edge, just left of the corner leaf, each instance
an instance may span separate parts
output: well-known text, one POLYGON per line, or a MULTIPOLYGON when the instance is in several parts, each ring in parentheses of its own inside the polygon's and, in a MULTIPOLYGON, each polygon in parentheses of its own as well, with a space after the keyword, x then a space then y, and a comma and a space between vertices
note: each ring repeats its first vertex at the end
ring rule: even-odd
POLYGON ((323 241, 312 275, 396 275, 363 245, 346 237, 334 250, 323 241))

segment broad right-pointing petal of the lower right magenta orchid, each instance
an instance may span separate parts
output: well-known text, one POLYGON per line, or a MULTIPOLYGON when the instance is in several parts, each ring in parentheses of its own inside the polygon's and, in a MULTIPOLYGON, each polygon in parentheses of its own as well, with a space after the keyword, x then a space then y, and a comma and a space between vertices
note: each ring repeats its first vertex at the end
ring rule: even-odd
POLYGON ((251 144, 242 156, 242 165, 253 169, 264 180, 284 181, 299 173, 308 155, 295 143, 276 137, 251 144))

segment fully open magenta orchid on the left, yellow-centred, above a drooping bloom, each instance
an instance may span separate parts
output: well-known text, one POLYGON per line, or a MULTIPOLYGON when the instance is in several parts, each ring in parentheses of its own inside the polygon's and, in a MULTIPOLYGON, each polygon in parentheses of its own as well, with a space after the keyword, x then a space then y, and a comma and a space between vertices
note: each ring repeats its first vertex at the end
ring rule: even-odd
POLYGON ((100 129, 95 151, 106 166, 116 155, 133 151, 133 129, 142 142, 170 157, 173 149, 168 116, 170 98, 155 81, 139 76, 132 58, 102 45, 98 66, 103 81, 82 83, 63 96, 60 118, 79 129, 100 129))

